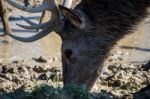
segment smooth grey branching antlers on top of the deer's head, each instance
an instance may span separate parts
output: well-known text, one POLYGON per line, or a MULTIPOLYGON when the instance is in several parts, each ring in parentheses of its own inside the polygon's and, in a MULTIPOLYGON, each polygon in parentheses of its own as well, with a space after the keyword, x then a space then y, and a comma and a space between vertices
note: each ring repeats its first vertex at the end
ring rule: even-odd
MULTIPOLYGON (((36 24, 36 23, 28 20, 27 18, 21 16, 31 26, 17 24, 18 26, 25 28, 25 29, 43 29, 43 30, 40 31, 39 33, 35 34, 34 36, 28 37, 28 38, 18 37, 13 34, 8 34, 10 37, 12 37, 16 40, 19 40, 22 42, 33 42, 33 41, 43 38, 44 36, 48 35, 52 31, 58 31, 63 26, 61 14, 60 14, 59 8, 58 8, 55 0, 45 0, 42 5, 40 5, 39 7, 35 7, 35 8, 28 8, 25 6, 21 6, 11 0, 7 0, 7 2, 9 4, 11 4, 12 6, 15 6, 18 9, 21 9, 21 10, 27 11, 27 12, 31 12, 31 13, 43 12, 45 10, 48 10, 51 12, 50 20, 48 22, 42 23, 42 24, 36 24)), ((63 6, 70 7, 71 3, 72 3, 72 0, 64 0, 63 6)))

